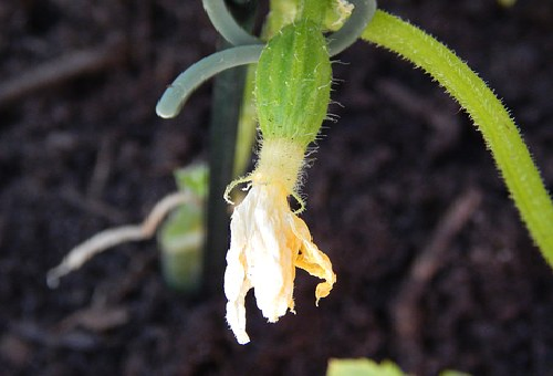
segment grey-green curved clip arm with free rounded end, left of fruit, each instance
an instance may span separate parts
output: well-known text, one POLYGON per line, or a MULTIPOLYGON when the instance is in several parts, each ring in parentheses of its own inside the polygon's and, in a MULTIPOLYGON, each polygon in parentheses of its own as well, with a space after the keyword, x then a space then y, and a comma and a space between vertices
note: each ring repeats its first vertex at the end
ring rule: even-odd
POLYGON ((186 100, 199 85, 221 71, 257 63, 262 49, 261 44, 236 46, 213 53, 195 63, 167 87, 157 103, 157 115, 164 118, 177 116, 186 100))

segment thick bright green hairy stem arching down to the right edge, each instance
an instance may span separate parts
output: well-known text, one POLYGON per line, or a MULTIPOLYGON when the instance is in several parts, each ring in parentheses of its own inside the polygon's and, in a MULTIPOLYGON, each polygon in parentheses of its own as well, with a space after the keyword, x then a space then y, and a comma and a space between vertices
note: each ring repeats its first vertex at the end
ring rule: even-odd
POLYGON ((532 238, 553 268, 553 203, 505 107, 453 52, 420 29, 378 10, 362 39, 409 60, 436 79, 482 133, 532 238))

